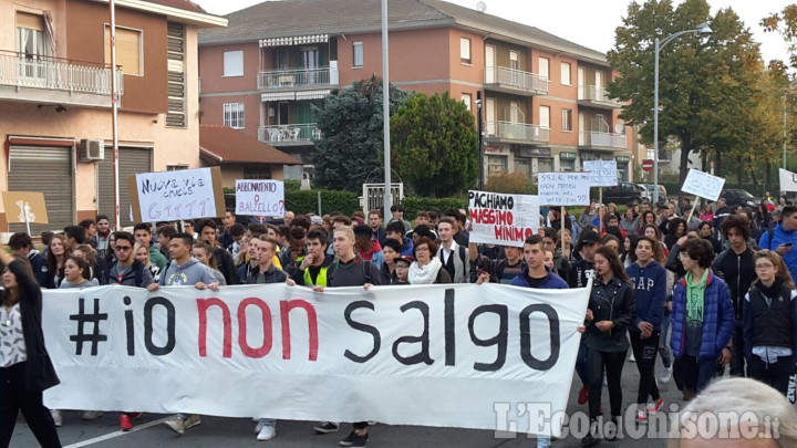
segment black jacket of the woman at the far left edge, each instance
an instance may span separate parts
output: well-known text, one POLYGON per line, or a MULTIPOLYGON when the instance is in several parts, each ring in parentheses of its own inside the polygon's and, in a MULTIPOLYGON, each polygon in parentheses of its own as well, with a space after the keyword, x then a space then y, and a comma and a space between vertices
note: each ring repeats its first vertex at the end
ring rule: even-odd
POLYGON ((17 277, 20 288, 22 334, 28 352, 24 389, 28 393, 39 393, 61 383, 44 347, 44 334, 41 330, 41 288, 28 275, 20 261, 11 262, 8 268, 17 277))

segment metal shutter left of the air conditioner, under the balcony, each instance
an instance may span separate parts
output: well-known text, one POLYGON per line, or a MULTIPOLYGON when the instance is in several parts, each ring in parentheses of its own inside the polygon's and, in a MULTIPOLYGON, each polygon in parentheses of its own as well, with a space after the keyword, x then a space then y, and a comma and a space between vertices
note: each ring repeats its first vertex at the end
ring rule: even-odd
MULTIPOLYGON (((11 146, 9 191, 44 194, 50 223, 31 223, 33 235, 75 223, 72 153, 64 147, 11 146)), ((27 231, 25 225, 11 223, 9 231, 27 231)))

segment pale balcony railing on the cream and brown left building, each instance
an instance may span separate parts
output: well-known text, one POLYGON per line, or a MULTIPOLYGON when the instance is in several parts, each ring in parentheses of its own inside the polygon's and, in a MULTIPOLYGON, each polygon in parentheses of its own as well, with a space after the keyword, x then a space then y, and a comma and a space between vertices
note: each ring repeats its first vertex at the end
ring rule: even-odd
MULTIPOLYGON (((124 93, 117 72, 116 90, 124 93)), ((68 60, 0 52, 0 85, 111 96, 111 69, 68 60)))

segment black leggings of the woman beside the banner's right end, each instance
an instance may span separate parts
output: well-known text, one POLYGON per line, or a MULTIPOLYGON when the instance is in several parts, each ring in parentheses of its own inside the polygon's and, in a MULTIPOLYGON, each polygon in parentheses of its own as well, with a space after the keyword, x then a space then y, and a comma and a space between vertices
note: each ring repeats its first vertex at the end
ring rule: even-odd
POLYGON ((590 419, 598 418, 601 407, 601 392, 603 389, 603 369, 607 373, 607 383, 609 384, 609 404, 611 406, 612 417, 621 417, 622 415, 622 387, 620 379, 622 378, 622 368, 625 364, 625 355, 628 350, 622 352, 601 352, 598 350, 587 350, 587 366, 589 371, 589 409, 590 419))

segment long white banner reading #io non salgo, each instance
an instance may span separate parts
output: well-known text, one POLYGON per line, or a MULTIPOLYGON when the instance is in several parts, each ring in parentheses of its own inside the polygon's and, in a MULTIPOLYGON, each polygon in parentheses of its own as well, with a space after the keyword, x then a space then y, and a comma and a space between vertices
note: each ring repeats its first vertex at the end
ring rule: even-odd
POLYGON ((61 384, 44 400, 55 409, 480 429, 517 421, 517 431, 540 434, 518 406, 534 402, 550 406, 557 436, 589 292, 46 290, 42 327, 61 384))

